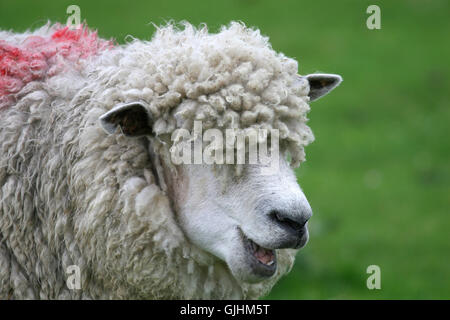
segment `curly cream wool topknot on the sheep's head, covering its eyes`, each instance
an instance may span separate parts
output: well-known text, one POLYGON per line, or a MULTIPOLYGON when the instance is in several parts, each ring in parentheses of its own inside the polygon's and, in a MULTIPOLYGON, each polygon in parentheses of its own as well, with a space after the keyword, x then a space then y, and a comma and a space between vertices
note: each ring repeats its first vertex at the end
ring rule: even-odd
POLYGON ((192 132, 195 120, 204 129, 278 129, 298 166, 314 136, 306 125, 309 84, 298 76, 297 62, 240 23, 218 34, 184 27, 168 25, 151 42, 135 40, 105 54, 92 72, 110 89, 97 99, 109 106, 148 101, 156 135, 192 132))

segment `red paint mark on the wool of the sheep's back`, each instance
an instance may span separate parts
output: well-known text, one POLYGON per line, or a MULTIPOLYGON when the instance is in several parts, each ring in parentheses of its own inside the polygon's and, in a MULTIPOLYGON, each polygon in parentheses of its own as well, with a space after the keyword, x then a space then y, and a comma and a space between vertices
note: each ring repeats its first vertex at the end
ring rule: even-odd
POLYGON ((20 45, 0 40, 0 109, 11 105, 27 83, 62 72, 68 64, 113 47, 87 27, 72 30, 55 26, 48 36, 29 36, 20 45))

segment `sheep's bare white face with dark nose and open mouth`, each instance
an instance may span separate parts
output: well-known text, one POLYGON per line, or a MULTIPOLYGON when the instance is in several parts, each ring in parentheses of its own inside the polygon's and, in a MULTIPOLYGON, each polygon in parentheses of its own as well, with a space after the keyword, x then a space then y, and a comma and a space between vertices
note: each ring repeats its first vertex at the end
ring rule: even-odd
POLYGON ((245 165, 239 176, 226 165, 184 165, 178 172, 170 184, 181 228, 237 279, 274 276, 286 263, 277 257, 308 241, 311 207, 284 159, 272 174, 261 174, 259 165, 245 165))

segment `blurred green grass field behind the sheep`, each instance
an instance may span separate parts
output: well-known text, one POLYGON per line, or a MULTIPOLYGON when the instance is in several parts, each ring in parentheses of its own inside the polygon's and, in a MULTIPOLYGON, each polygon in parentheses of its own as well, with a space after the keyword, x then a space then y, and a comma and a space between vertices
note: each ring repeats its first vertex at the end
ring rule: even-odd
POLYGON ((0 1, 0 28, 81 17, 119 43, 168 20, 215 31, 257 26, 299 73, 339 73, 312 104, 316 141, 298 179, 314 210, 310 242, 269 299, 450 299, 450 2, 0 1), (366 8, 381 7, 381 30, 366 8), (368 290, 366 268, 381 268, 368 290))

